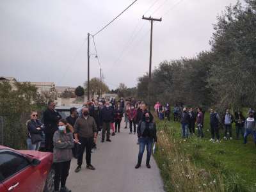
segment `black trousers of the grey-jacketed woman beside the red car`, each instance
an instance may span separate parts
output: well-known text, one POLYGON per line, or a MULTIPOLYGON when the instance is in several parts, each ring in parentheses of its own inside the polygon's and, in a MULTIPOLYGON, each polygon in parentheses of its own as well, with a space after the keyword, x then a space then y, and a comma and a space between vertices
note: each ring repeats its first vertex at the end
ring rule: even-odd
POLYGON ((61 184, 61 188, 65 187, 69 168, 70 168, 70 161, 54 163, 54 170, 55 170, 54 190, 55 191, 59 190, 60 184, 61 184))

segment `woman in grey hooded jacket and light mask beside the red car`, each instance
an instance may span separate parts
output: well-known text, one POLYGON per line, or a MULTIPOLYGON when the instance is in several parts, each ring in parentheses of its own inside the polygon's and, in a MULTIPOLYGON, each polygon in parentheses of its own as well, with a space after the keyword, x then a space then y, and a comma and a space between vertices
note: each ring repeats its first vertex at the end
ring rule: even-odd
POLYGON ((74 147, 73 127, 67 120, 61 119, 58 123, 58 131, 53 136, 53 163, 54 163, 54 191, 71 192, 66 187, 66 180, 72 159, 74 147))

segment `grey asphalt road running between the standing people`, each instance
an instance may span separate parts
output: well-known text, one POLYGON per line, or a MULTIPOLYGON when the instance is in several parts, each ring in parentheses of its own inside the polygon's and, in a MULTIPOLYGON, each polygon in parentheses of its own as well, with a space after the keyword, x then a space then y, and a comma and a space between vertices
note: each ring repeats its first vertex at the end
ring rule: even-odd
MULTIPOLYGON (((72 192, 162 192, 161 180, 156 161, 152 157, 151 168, 146 167, 146 149, 141 167, 134 166, 138 159, 137 136, 129 134, 129 129, 121 126, 121 132, 111 136, 112 142, 101 143, 98 138, 98 149, 92 154, 92 164, 96 170, 87 170, 84 164, 79 173, 74 170, 76 159, 72 159, 67 187, 72 192)), ((85 154, 84 154, 85 155, 85 154)))

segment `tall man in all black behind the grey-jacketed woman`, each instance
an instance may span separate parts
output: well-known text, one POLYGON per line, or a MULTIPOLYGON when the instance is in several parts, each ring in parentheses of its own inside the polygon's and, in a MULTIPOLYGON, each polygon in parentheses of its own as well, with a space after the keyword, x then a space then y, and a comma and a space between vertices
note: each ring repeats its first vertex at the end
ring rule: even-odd
POLYGON ((48 108, 44 111, 45 125, 45 150, 53 152, 53 134, 58 130, 58 122, 61 120, 61 115, 55 110, 56 104, 53 101, 48 102, 48 108))

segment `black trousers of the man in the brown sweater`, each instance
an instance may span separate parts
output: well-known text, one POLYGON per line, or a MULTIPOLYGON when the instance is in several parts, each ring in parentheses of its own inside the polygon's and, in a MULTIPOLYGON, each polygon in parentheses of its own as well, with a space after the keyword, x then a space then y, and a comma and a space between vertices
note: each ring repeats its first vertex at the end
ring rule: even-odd
POLYGON ((91 152, 92 152, 92 147, 93 147, 93 138, 79 138, 79 142, 81 143, 81 145, 79 145, 77 164, 80 166, 83 164, 83 156, 84 156, 84 149, 85 149, 86 164, 90 165, 91 164, 91 152))

